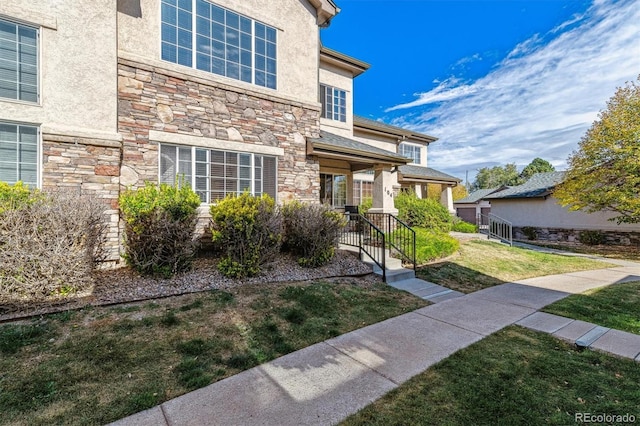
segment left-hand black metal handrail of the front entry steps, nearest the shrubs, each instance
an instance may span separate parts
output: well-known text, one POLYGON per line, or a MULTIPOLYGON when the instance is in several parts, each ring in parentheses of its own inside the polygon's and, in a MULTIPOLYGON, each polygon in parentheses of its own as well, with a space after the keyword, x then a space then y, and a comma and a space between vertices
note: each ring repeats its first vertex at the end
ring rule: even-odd
POLYGON ((340 243, 358 247, 360 256, 364 252, 382 270, 382 280, 387 281, 385 234, 366 217, 358 213, 347 213, 347 226, 342 231, 340 243))

